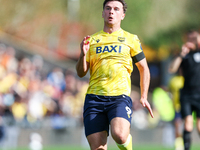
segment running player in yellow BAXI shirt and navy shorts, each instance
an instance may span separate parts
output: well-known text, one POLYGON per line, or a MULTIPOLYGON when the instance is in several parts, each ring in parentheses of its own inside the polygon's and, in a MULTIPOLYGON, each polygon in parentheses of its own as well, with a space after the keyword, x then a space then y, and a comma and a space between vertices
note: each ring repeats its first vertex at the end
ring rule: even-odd
POLYGON ((141 43, 136 35, 121 29, 126 10, 124 0, 105 0, 103 30, 86 36, 80 44, 77 74, 83 77, 90 69, 83 116, 91 150, 107 149, 109 128, 119 149, 132 150, 132 61, 140 72, 140 102, 153 117, 147 100, 150 73, 141 43))

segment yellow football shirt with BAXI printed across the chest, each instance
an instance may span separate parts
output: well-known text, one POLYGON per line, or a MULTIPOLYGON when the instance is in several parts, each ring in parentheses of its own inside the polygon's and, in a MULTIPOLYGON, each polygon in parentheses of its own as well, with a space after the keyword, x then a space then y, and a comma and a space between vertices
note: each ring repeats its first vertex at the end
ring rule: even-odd
POLYGON ((132 57, 136 61, 145 57, 137 35, 121 28, 111 34, 101 30, 89 41, 86 61, 90 64, 90 82, 87 94, 130 96, 132 57))

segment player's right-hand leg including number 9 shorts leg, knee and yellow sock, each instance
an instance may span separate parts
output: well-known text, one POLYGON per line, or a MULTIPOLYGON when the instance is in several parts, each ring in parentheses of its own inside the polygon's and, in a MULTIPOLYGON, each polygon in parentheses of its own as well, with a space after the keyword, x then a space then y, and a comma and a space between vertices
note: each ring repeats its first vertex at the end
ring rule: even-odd
POLYGON ((132 150, 132 136, 130 135, 132 100, 129 96, 121 95, 111 101, 113 104, 107 109, 112 137, 119 149, 132 150))

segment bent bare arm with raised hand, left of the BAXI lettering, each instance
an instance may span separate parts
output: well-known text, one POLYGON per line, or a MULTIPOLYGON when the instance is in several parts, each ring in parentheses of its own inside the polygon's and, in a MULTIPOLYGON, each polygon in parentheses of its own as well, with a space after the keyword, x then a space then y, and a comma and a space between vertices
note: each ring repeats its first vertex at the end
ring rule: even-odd
POLYGON ((84 37, 80 44, 81 54, 76 64, 76 72, 79 77, 84 77, 89 70, 89 63, 86 61, 86 54, 90 48, 89 38, 90 36, 84 37))

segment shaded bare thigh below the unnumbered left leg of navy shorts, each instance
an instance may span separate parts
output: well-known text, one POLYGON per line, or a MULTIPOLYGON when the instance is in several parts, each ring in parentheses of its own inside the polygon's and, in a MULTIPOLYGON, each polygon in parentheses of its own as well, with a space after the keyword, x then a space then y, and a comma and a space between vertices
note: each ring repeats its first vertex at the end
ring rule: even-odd
POLYGON ((91 150, 102 149, 107 150, 107 132, 97 132, 87 136, 91 150))

